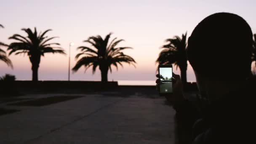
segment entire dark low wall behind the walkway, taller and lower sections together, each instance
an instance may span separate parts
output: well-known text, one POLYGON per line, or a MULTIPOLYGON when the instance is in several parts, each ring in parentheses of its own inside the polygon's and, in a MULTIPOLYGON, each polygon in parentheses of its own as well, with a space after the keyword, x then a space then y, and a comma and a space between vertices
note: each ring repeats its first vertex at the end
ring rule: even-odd
MULTIPOLYGON (((117 91, 118 89, 135 88, 138 91, 155 91, 155 85, 118 85, 117 82, 100 81, 0 81, 0 94, 32 93, 90 93, 98 91, 117 91)), ((198 91, 196 83, 187 83, 184 91, 198 91)))

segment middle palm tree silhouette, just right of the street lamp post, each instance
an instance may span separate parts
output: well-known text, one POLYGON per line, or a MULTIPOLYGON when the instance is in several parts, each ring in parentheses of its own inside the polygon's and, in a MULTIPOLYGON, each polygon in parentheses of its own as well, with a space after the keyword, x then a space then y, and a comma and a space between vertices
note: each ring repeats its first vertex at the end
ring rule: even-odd
POLYGON ((116 40, 117 37, 109 43, 111 35, 112 33, 109 33, 104 40, 100 35, 98 35, 96 37, 89 37, 88 40, 83 41, 91 44, 93 48, 89 48, 87 46, 80 46, 77 48, 81 53, 78 53, 75 59, 80 58, 80 56, 83 57, 80 58, 75 64, 75 67, 72 68, 73 72, 77 72, 80 67, 85 66, 85 71, 89 67, 92 67, 94 74, 96 68, 99 66, 101 71, 101 82, 107 82, 107 74, 109 70, 112 72, 112 65, 115 66, 117 70, 118 64, 123 67, 123 62, 132 64, 135 67, 135 60, 131 56, 125 55, 122 52, 122 50, 131 47, 116 47, 118 43, 123 41, 116 40))

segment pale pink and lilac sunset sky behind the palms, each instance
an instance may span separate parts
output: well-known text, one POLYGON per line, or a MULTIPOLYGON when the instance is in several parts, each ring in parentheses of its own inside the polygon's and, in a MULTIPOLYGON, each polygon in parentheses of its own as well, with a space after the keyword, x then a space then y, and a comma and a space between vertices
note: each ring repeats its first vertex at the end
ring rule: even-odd
MULTIPOLYGON (((78 46, 89 36, 118 37, 125 42, 120 46, 133 49, 124 53, 132 56, 136 68, 124 65, 109 73, 109 80, 155 80, 155 60, 164 40, 174 35, 188 36, 206 16, 216 12, 230 12, 242 16, 256 33, 256 0, 0 0, 0 41, 10 44, 13 34, 27 36, 21 28, 37 27, 38 31, 53 29, 48 36, 59 36, 52 42, 61 44, 68 53, 70 42, 71 67, 75 65, 78 46)), ((6 48, 1 47, 3 50, 6 48)), ((14 69, 0 61, 0 76, 15 75, 18 80, 31 80, 31 63, 28 56, 11 55, 14 69)), ((216 67, 216 66, 215 66, 216 67)), ((97 69, 84 73, 84 67, 71 74, 71 80, 100 80, 97 69)), ((179 70, 174 72, 179 74, 179 70)), ((68 56, 46 54, 39 67, 39 80, 67 80, 68 56)), ((189 66, 187 79, 195 81, 189 66)))

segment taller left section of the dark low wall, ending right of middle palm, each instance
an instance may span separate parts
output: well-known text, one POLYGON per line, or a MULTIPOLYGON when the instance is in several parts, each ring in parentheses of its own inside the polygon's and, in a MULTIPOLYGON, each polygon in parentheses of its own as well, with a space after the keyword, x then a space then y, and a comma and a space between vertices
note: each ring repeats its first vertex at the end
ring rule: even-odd
POLYGON ((12 91, 20 93, 83 93, 88 91, 106 91, 117 87, 117 82, 102 83, 100 81, 0 81, 0 88, 7 93, 12 91))

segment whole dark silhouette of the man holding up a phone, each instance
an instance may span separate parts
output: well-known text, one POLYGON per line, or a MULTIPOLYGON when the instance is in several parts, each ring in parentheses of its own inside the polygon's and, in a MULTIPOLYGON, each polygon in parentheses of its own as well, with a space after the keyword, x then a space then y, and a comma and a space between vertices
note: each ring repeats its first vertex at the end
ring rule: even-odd
MULTIPOLYGON (((193 30, 187 57, 202 99, 197 103, 189 101, 182 92, 179 75, 175 74, 173 94, 165 96, 176 110, 178 125, 192 129, 186 142, 252 143, 252 36, 248 23, 233 13, 212 14, 193 30)), ((158 88, 160 80, 156 83, 158 88)))

